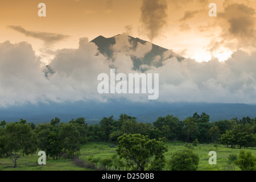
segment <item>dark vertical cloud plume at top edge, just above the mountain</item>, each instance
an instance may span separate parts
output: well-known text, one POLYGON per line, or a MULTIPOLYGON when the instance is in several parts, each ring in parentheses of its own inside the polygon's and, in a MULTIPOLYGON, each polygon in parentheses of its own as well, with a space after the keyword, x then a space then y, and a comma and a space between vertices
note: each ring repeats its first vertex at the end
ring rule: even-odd
POLYGON ((167 3, 164 0, 143 0, 141 6, 141 22, 150 40, 156 38, 167 18, 167 3))

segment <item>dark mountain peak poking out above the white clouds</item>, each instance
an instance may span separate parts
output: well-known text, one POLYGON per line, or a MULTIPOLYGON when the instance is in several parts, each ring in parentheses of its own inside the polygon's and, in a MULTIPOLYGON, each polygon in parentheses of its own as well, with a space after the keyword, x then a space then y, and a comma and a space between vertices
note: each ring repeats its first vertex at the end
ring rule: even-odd
MULTIPOLYGON (((98 50, 100 51, 100 53, 111 58, 113 57, 113 53, 114 53, 112 46, 115 44, 115 38, 117 38, 118 36, 122 36, 122 35, 116 35, 116 36, 113 36, 112 38, 105 38, 104 36, 98 36, 97 38, 93 39, 91 42, 95 43, 98 46, 98 50)), ((143 45, 146 43, 149 43, 145 40, 134 38, 132 36, 129 36, 129 42, 133 46, 133 49, 135 49, 138 46, 138 43, 141 43, 143 45)), ((160 67, 162 66, 162 61, 166 59, 170 59, 171 57, 176 57, 177 60, 179 61, 182 61, 184 59, 184 57, 178 55, 177 53, 172 52, 171 50, 152 44, 151 51, 146 53, 146 55, 142 59, 139 59, 135 56, 131 56, 131 60, 133 60, 134 69, 137 70, 137 69, 140 69, 139 67, 142 64, 146 64, 146 65, 153 64, 155 67, 160 67), (166 55, 167 57, 165 57, 166 55), (158 61, 153 63, 153 61, 156 59, 156 56, 158 56, 157 58, 158 61)))

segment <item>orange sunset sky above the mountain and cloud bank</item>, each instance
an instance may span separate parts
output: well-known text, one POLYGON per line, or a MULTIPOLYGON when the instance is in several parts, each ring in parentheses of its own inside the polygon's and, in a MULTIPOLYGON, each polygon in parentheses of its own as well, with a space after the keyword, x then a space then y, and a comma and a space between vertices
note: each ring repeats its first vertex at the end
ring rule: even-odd
POLYGON ((0 42, 26 41, 32 44, 36 53, 40 54, 40 49, 44 46, 42 40, 26 36, 8 26, 21 26, 24 30, 33 32, 68 35, 67 38, 51 44, 49 47, 51 49, 76 48, 81 37, 87 37, 89 40, 98 35, 112 37, 126 32, 125 27, 128 26, 132 28, 129 31, 131 36, 173 49, 181 56, 191 57, 197 61, 208 61, 212 56, 218 57, 219 60, 225 59, 238 48, 247 51, 254 49, 253 43, 240 44, 241 40, 254 38, 255 14, 253 11, 251 14, 248 13, 249 10, 256 8, 256 2, 253 0, 160 0, 160 3, 166 5, 165 23, 152 40, 147 34, 146 22, 141 18, 141 7, 145 2, 145 0, 1 1, 0 42), (38 4, 41 2, 46 3, 46 17, 38 16, 38 4), (217 4, 217 17, 208 15, 210 2, 217 4), (236 4, 239 7, 232 6, 236 4), (239 20, 245 22, 245 28, 236 27, 236 23, 239 26, 239 20), (237 31, 231 31, 232 28, 236 28, 237 31), (249 30, 252 35, 245 34, 249 30), (209 49, 214 51, 210 52, 209 49))

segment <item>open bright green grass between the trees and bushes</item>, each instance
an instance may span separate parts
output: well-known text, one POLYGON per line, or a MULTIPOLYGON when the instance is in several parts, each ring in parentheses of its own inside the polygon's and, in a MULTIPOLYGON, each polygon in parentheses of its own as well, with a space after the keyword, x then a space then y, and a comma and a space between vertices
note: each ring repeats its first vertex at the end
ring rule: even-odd
MULTIPOLYGON (((170 159, 172 152, 184 150, 183 143, 171 143, 166 142, 168 146, 168 152, 165 153, 166 159, 170 159)), ((111 148, 112 143, 104 142, 89 142, 84 144, 81 147, 80 159, 86 160, 89 158, 111 158, 116 152, 116 148, 111 148)), ((254 156, 256 156, 256 148, 245 148, 245 151, 251 151, 254 156)), ((199 171, 218 171, 216 165, 210 165, 208 160, 210 158, 209 151, 217 152, 217 166, 222 171, 224 170, 224 165, 226 165, 226 158, 230 154, 239 154, 240 149, 238 148, 226 148, 222 145, 218 145, 218 150, 216 147, 213 147, 213 144, 199 144, 197 147, 193 147, 193 151, 199 154, 199 171)), ((49 158, 46 161, 46 165, 39 165, 38 162, 39 156, 37 154, 29 156, 21 156, 18 160, 18 167, 13 168, 13 162, 10 158, 1 158, 0 159, 0 170, 2 171, 88 171, 92 169, 86 169, 84 167, 76 166, 72 163, 71 159, 59 159, 53 160, 49 158)), ((166 170, 168 170, 166 168, 166 170)), ((241 170, 236 166, 236 171, 241 170)))

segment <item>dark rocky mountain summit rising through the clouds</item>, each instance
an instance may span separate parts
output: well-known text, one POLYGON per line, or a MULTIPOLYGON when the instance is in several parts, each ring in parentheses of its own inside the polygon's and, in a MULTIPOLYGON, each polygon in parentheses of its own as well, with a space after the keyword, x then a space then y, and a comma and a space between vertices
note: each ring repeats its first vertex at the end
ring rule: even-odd
POLYGON ((143 48, 143 46, 151 46, 151 49, 145 52, 144 55, 141 57, 138 57, 134 54, 130 55, 131 60, 133 60, 135 70, 144 71, 143 68, 141 67, 142 65, 153 65, 155 67, 161 67, 162 62, 164 60, 170 59, 172 57, 176 57, 178 61, 182 61, 184 59, 184 57, 177 55, 176 53, 172 52, 172 50, 157 46, 145 40, 134 38, 128 35, 119 34, 113 36, 112 38, 105 38, 104 36, 100 35, 97 38, 93 39, 91 42, 95 43, 96 46, 98 46, 98 50, 100 51, 100 53, 108 56, 111 59, 114 55, 114 52, 116 51, 114 49, 114 45, 117 43, 117 41, 123 39, 125 36, 125 39, 129 41, 127 44, 129 44, 129 48, 131 51, 142 52, 141 49, 143 48))

